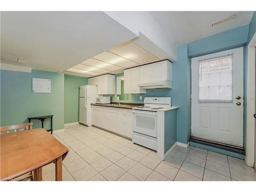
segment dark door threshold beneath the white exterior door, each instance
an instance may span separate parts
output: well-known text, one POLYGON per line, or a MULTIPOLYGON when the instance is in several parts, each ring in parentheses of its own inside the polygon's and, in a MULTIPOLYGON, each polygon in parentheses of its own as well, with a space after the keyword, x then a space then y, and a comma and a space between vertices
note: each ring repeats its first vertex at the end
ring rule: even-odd
POLYGON ((190 137, 189 140, 192 141, 192 142, 195 142, 195 143, 200 143, 200 144, 204 144, 204 145, 208 145, 208 146, 212 146, 212 147, 216 147, 216 148, 221 148, 222 150, 227 150, 227 151, 230 151, 230 152, 245 155, 245 150, 242 147, 232 146, 232 145, 219 143, 219 142, 215 142, 215 141, 209 141, 209 140, 206 140, 206 139, 201 139, 201 138, 192 137, 192 136, 190 137))

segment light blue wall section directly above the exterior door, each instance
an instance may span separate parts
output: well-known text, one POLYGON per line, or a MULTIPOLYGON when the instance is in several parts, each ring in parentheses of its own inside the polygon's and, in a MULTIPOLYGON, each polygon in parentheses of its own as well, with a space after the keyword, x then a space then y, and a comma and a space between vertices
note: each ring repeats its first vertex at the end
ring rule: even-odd
POLYGON ((248 31, 249 25, 245 25, 189 42, 187 44, 188 54, 190 57, 196 57, 199 55, 242 47, 247 43, 248 31))

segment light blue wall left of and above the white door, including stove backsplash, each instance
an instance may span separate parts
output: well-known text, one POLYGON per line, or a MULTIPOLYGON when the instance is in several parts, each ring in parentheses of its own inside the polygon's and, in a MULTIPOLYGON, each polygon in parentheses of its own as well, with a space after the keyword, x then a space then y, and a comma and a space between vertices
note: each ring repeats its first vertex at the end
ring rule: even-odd
MULTIPOLYGON (((177 62, 173 63, 173 89, 147 90, 146 94, 129 95, 129 102, 141 103, 139 96, 147 97, 172 97, 173 106, 180 106, 177 117, 177 141, 186 143, 190 137, 190 58, 199 55, 215 53, 227 49, 245 47, 244 58, 247 57, 246 44, 248 32, 255 31, 255 13, 250 25, 234 28, 223 33, 205 37, 187 45, 177 47, 177 62), (253 24, 252 24, 253 22, 253 24), (250 27, 250 30, 249 30, 250 27)), ((253 32, 250 32, 253 33, 253 32)), ((247 62, 245 59, 245 71, 247 62)), ((247 86, 247 73, 244 75, 244 88, 247 86)), ((245 90, 246 92, 246 90, 245 90)), ((246 100, 245 100, 246 104, 246 100)), ((246 105, 245 105, 246 109, 246 105)), ((245 117, 246 118, 246 114, 245 117)))

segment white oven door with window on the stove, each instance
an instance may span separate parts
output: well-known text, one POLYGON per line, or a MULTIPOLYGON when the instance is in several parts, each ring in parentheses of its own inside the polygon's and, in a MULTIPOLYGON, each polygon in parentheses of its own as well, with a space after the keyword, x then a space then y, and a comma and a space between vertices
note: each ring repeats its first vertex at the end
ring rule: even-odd
POLYGON ((133 132, 157 138, 157 112, 133 110, 133 132))

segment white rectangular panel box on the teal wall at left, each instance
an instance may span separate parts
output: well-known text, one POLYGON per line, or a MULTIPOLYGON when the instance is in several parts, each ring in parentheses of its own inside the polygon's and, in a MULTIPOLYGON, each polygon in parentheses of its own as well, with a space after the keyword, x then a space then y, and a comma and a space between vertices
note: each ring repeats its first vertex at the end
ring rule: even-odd
POLYGON ((51 93, 51 79, 32 78, 32 93, 51 93))

